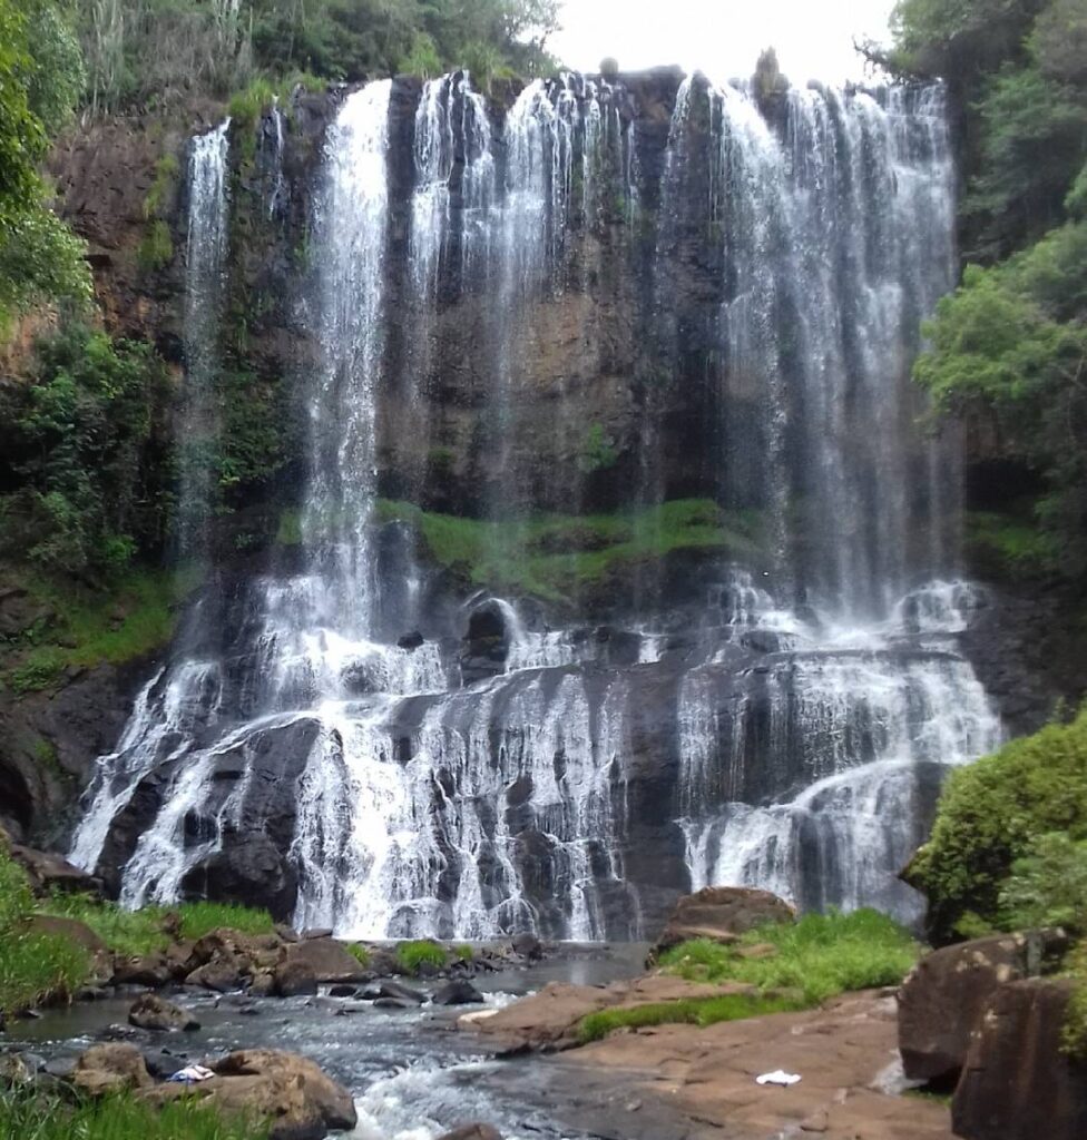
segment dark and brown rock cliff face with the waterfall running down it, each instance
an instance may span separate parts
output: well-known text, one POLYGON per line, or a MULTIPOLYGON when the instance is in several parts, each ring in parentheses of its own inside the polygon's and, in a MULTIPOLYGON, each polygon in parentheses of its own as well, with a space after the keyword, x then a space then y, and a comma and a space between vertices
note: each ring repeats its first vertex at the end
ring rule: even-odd
POLYGON ((204 587, 120 744, 106 677, 63 757, 112 754, 75 857, 343 933, 635 937, 728 882, 914 915, 894 872, 999 732, 964 652, 1019 687, 914 429, 939 93, 398 79, 232 124, 197 182, 218 121, 55 156, 214 456, 204 587))

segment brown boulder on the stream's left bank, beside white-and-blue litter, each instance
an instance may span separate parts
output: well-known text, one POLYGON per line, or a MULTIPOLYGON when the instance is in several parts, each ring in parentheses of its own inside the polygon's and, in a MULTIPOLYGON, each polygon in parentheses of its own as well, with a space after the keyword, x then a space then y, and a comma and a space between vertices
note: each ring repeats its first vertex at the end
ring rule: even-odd
POLYGON ((202 1084, 164 1084, 144 1096, 153 1104, 193 1097, 226 1115, 263 1118, 270 1140, 322 1140, 330 1129, 357 1123, 351 1094, 305 1057, 248 1049, 211 1068, 216 1076, 202 1084))

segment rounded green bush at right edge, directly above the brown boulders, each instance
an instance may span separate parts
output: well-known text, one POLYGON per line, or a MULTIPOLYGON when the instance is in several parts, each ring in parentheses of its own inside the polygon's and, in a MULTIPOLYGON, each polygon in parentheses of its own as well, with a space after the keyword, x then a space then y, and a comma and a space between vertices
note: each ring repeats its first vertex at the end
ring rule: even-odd
POLYGON ((1087 709, 1071 724, 1048 725, 952 772, 932 838, 905 876, 927 896, 930 933, 943 943, 984 927, 1015 926, 1023 917, 1024 881, 1039 891, 1043 909, 1064 907, 1064 885, 1043 890, 1043 880, 1054 866, 1078 865, 1081 849, 1068 844, 1084 840, 1087 709), (1045 838, 1053 834, 1063 839, 1045 838))

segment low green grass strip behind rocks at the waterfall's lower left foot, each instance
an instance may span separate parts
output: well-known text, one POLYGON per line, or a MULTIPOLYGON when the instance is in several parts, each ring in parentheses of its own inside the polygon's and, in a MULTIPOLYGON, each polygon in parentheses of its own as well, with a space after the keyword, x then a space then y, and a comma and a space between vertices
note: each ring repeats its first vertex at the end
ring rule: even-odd
POLYGON ((177 906, 145 906, 125 911, 116 903, 99 902, 89 895, 56 894, 43 905, 49 914, 78 919, 120 954, 153 954, 170 945, 163 929, 167 914, 181 918, 181 937, 197 939, 220 927, 242 934, 270 934, 271 915, 267 911, 233 903, 180 903, 177 906))

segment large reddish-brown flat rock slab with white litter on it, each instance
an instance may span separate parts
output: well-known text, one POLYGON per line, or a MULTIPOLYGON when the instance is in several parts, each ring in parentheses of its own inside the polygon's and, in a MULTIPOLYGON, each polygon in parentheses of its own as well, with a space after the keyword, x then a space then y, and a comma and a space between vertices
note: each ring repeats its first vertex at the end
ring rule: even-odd
MULTIPOLYGON (((686 1118, 686 1127, 662 1134, 690 1140, 952 1140, 946 1107, 879 1091, 895 1044, 893 999, 865 992, 803 1013, 616 1033, 555 1064, 633 1078, 646 1105, 666 1104, 686 1118), (777 1068, 801 1082, 755 1083, 777 1068)), ((641 1135, 635 1122, 643 1115, 632 1115, 631 1137, 641 1135)))

